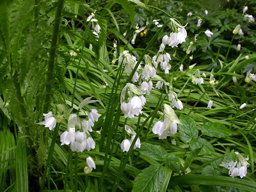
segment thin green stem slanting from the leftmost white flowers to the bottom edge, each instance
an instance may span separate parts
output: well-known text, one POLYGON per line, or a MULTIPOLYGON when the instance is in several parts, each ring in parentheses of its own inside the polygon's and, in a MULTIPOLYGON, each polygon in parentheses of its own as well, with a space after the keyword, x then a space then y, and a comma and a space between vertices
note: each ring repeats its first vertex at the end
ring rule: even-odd
POLYGON ((47 172, 50 171, 52 154, 54 152, 54 145, 55 145, 56 138, 58 136, 59 128, 60 128, 60 124, 57 125, 57 127, 54 129, 54 132, 53 132, 51 146, 50 146, 49 154, 48 154, 47 161, 45 164, 43 179, 42 179, 41 186, 40 186, 40 192, 43 191, 43 189, 44 189, 45 178, 46 178, 47 172))

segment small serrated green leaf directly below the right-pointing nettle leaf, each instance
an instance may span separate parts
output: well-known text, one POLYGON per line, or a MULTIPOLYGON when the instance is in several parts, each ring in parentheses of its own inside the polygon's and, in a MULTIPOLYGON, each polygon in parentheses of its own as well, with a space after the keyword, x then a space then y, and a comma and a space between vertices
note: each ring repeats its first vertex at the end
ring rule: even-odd
POLYGON ((214 148, 212 147, 212 145, 203 138, 196 138, 195 140, 191 140, 189 142, 189 145, 192 150, 202 147, 202 152, 204 154, 211 154, 212 152, 214 152, 214 148))

